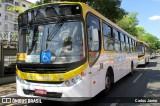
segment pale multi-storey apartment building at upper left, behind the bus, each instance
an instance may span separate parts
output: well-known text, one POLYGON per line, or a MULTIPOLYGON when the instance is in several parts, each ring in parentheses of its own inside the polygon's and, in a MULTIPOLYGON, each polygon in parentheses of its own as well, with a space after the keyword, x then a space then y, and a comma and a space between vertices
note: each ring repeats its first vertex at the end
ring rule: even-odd
POLYGON ((8 33, 17 34, 18 14, 26 9, 29 9, 31 4, 32 3, 27 0, 0 0, 1 40, 8 39, 8 33))

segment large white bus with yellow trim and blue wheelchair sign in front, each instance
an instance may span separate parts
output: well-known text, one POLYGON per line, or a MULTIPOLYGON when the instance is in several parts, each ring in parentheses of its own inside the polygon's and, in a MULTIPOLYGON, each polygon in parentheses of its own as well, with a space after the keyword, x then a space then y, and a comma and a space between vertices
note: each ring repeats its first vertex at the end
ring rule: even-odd
POLYGON ((136 38, 81 2, 53 2, 21 13, 17 94, 82 101, 109 93, 138 65, 136 38), (72 99, 71 99, 72 98, 72 99))

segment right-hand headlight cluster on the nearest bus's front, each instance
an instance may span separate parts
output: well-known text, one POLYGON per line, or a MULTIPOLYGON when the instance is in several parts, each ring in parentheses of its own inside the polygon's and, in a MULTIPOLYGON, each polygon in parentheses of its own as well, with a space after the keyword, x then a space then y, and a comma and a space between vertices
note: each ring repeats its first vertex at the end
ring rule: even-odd
POLYGON ((82 80, 82 76, 81 75, 77 75, 67 81, 64 82, 64 86, 72 86, 74 84, 76 84, 78 81, 82 80))

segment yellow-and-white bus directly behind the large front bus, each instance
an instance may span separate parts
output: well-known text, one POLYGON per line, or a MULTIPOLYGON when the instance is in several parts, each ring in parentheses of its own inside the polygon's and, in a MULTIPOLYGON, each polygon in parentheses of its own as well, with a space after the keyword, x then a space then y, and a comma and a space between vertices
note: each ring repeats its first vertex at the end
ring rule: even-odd
POLYGON ((145 65, 146 63, 149 63, 150 60, 149 46, 143 41, 137 41, 137 48, 138 48, 138 64, 145 65))

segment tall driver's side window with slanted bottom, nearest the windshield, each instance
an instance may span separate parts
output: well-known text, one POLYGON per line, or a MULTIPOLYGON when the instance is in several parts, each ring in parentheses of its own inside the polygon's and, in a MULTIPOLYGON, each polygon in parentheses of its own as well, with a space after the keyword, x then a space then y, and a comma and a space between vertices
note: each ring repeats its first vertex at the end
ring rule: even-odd
POLYGON ((87 33, 90 67, 96 62, 100 53, 100 21, 98 18, 87 15, 87 33))

